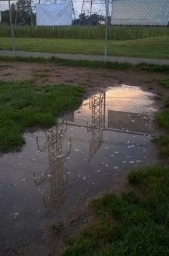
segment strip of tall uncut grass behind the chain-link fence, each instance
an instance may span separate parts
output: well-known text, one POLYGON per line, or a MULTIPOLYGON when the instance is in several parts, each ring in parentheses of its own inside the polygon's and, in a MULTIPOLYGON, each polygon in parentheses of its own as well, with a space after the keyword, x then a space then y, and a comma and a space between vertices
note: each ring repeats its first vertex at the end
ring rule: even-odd
MULTIPOLYGON (((138 38, 168 36, 167 27, 143 27, 143 26, 110 26, 108 39, 132 40, 138 38)), ((10 37, 10 26, 0 26, 0 36, 10 37)), ((74 38, 74 39, 103 39, 105 38, 104 26, 55 26, 55 27, 31 27, 15 26, 16 37, 33 38, 74 38)))

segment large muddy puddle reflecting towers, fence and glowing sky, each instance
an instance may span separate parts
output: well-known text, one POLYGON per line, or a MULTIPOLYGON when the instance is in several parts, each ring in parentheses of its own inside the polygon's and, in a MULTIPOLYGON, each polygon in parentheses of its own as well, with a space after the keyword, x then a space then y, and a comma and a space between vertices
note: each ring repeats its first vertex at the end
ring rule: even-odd
POLYGON ((0 255, 23 239, 41 243, 45 220, 156 161, 154 96, 133 86, 109 88, 52 129, 26 134, 22 152, 1 156, 0 255))

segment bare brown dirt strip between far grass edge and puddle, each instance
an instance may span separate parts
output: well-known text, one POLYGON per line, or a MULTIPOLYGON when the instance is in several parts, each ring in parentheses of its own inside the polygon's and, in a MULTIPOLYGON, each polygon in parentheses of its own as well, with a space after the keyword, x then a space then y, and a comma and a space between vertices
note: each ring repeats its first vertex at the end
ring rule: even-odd
POLYGON ((92 69, 83 67, 59 67, 54 63, 0 62, 0 78, 5 81, 33 79, 36 83, 83 84, 87 93, 96 92, 116 84, 141 86, 155 90, 163 96, 166 90, 159 88, 158 79, 168 77, 135 70, 92 69))

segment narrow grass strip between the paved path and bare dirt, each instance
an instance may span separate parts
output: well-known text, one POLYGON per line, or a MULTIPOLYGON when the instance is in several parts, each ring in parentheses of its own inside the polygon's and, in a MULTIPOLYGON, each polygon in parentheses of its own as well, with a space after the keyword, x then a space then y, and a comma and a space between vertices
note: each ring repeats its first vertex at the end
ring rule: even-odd
POLYGON ((103 61, 87 61, 87 60, 64 60, 61 58, 34 58, 34 57, 6 57, 0 56, 0 61, 22 61, 22 62, 34 62, 34 63, 55 63, 57 66, 64 67, 88 67, 88 68, 112 68, 117 70, 144 70, 147 72, 162 72, 169 74, 169 65, 157 65, 157 64, 148 64, 140 63, 132 65, 128 62, 107 62, 106 64, 103 61))

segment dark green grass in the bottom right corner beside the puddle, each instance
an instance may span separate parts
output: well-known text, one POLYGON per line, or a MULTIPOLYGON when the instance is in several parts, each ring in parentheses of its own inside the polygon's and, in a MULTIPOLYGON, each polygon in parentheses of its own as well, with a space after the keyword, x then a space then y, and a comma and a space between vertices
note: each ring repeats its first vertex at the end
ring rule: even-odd
POLYGON ((96 220, 70 239, 62 256, 158 256, 169 253, 169 168, 128 175, 135 189, 93 198, 96 220))

